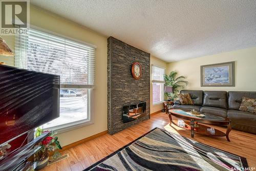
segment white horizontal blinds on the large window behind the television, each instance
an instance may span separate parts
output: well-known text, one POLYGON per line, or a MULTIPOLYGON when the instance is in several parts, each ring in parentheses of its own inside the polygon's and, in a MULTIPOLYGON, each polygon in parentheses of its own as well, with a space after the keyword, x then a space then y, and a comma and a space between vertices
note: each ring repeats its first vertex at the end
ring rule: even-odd
POLYGON ((15 66, 60 75, 61 84, 94 85, 95 48, 29 29, 15 40, 15 66))

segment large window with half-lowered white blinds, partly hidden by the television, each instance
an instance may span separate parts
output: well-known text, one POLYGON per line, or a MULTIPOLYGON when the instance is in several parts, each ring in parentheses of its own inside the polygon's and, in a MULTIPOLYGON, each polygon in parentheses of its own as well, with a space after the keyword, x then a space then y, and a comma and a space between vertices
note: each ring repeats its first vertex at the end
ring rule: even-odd
POLYGON ((15 40, 15 66, 60 75, 60 117, 43 125, 67 129, 91 121, 95 47, 29 29, 15 40))

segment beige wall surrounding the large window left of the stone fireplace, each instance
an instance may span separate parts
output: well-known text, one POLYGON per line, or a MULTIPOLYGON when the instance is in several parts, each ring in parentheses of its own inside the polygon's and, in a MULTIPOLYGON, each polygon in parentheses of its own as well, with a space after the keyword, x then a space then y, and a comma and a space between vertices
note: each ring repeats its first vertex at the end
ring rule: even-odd
MULTIPOLYGON (((107 77, 106 77, 106 37, 69 20, 56 16, 48 11, 31 7, 30 24, 77 40, 97 46, 95 59, 95 89, 93 93, 94 124, 58 135, 62 146, 95 135, 107 130, 107 77)), ((14 50, 14 36, 3 36, 7 44, 14 50)), ((0 56, 0 61, 13 66, 14 58, 0 56)))

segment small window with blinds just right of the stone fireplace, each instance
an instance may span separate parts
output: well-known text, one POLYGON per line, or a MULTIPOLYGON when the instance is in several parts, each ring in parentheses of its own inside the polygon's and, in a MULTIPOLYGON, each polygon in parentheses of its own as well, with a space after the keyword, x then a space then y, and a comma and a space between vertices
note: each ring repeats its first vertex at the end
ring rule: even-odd
POLYGON ((164 69, 152 66, 152 94, 153 104, 163 101, 164 69))

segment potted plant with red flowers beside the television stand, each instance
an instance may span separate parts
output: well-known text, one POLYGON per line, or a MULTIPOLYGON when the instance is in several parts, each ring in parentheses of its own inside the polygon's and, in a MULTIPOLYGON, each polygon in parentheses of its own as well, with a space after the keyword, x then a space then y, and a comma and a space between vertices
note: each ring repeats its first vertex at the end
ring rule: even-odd
POLYGON ((40 127, 37 127, 35 137, 39 137, 42 133, 49 132, 49 136, 47 136, 44 140, 42 140, 38 145, 41 148, 35 153, 34 160, 39 162, 36 170, 44 168, 47 166, 49 160, 49 152, 54 152, 52 158, 57 158, 60 156, 60 153, 56 149, 62 149, 60 143, 58 141, 58 137, 54 137, 56 133, 53 131, 43 131, 40 127))

